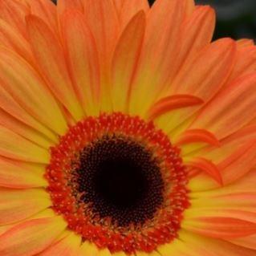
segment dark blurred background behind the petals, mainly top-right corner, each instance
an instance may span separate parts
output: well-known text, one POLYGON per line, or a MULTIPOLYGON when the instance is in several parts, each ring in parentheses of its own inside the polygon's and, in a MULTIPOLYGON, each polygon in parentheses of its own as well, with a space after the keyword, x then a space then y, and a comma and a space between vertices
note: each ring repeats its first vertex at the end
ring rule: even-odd
MULTIPOLYGON (((52 0, 56 2, 56 0, 52 0)), ((102 0, 104 1, 104 0, 102 0)), ((122 1, 122 0, 120 0, 122 1)), ((154 0, 148 0, 150 4, 154 0)), ((195 0, 217 10, 214 38, 256 39, 256 0, 195 0)))

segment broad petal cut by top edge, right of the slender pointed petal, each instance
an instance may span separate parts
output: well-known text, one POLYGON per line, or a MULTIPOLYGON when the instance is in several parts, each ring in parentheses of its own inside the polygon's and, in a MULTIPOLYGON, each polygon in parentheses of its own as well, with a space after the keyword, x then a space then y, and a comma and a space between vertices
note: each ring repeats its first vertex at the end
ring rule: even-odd
POLYGON ((143 115, 172 75, 184 17, 185 0, 158 0, 148 12, 144 45, 132 84, 132 114, 143 115))

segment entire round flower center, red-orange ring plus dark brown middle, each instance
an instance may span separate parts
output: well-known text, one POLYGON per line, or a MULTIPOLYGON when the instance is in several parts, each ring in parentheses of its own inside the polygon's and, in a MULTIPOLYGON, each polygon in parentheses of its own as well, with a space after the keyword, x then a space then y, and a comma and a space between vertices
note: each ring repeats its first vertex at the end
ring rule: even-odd
POLYGON ((121 113, 88 117, 51 148, 53 209, 83 241, 150 253, 177 237, 189 205, 179 153, 152 122, 121 113))

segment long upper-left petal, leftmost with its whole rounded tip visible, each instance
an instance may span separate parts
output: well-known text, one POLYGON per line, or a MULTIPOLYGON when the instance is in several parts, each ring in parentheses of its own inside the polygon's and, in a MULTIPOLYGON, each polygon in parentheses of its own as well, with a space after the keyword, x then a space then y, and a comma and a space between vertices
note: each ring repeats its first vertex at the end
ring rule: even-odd
POLYGON ((75 120, 80 120, 83 110, 75 97, 62 46, 43 20, 30 15, 26 22, 35 58, 51 91, 75 120))

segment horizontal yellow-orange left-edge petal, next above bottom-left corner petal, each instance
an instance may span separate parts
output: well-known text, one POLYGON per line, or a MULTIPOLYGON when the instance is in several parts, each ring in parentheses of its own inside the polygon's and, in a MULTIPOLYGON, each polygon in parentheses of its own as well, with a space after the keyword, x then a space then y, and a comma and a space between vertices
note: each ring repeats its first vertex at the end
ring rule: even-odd
POLYGON ((0 225, 22 221, 51 206, 43 189, 0 189, 0 225))

